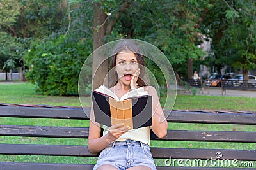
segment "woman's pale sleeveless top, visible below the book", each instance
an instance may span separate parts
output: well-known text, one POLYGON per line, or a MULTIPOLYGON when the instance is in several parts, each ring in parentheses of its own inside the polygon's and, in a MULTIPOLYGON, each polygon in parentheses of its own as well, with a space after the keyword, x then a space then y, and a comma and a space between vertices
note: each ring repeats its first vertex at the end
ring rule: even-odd
MULTIPOLYGON (((106 125, 102 125, 104 131, 103 136, 108 133, 109 127, 106 125)), ((140 141, 142 143, 146 143, 150 145, 150 127, 141 127, 138 129, 131 129, 125 134, 122 134, 115 141, 125 141, 127 139, 131 139, 133 141, 140 141)))

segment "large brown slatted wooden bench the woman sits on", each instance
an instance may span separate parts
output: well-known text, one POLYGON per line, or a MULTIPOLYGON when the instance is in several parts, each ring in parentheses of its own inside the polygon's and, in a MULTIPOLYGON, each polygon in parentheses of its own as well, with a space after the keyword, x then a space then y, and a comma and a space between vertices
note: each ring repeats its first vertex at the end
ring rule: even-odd
MULTIPOLYGON (((90 108, 86 108, 90 110, 90 108)), ((164 111, 166 114, 170 111, 164 111)), ((84 114, 81 108, 67 108, 67 107, 42 107, 42 106, 10 106, 6 104, 0 104, 0 118, 3 117, 15 117, 24 119, 31 118, 45 118, 51 119, 67 119, 67 120, 84 120, 88 121, 88 118, 84 114)), ((255 127, 256 125, 256 113, 234 113, 234 112, 214 112, 214 111, 182 111, 173 110, 167 118, 171 124, 179 123, 184 124, 184 127, 188 124, 232 124, 236 126, 250 125, 255 127)), ((35 125, 0 125, 0 136, 22 136, 33 138, 67 138, 72 140, 76 138, 88 138, 88 127, 53 127, 53 126, 35 126, 35 125)), ((6 138, 6 137, 5 137, 6 138)), ((157 166, 158 170, 162 169, 216 169, 216 167, 205 167, 204 164, 198 164, 196 167, 186 167, 189 160, 199 162, 199 160, 210 160, 220 158, 219 161, 225 160, 243 160, 247 161, 244 164, 248 166, 244 169, 255 169, 256 163, 256 131, 212 131, 207 129, 204 131, 198 131, 198 129, 185 129, 185 130, 168 130, 166 137, 159 139, 152 134, 152 141, 165 141, 168 143, 166 148, 158 148, 151 146, 151 151, 154 159, 161 159, 163 162, 160 166, 157 166), (214 143, 230 143, 236 146, 236 143, 251 143, 253 148, 232 149, 232 148, 209 148, 204 146, 203 148, 190 148, 176 147, 172 148, 172 143, 175 141, 196 141, 204 145, 205 142, 214 143), (170 147, 169 147, 170 145, 170 147), (217 158, 216 158, 217 157, 217 158), (179 160, 178 160, 179 159, 179 160), (189 160, 188 160, 189 159, 189 160), (175 167, 169 166, 170 161, 176 161, 175 167), (187 161, 187 164, 184 165, 187 161), (180 161, 180 162, 179 162, 180 161), (200 167, 198 167, 200 166, 200 167)), ((0 138, 1 139, 1 138, 0 138)), ((209 144, 211 145, 211 144, 209 144)), ((0 155, 52 155, 67 156, 67 157, 97 157, 88 151, 88 146, 85 143, 81 145, 35 145, 35 144, 17 144, 17 143, 2 143, 0 144, 0 155)), ((243 162, 242 161, 242 162, 243 162)), ((239 161, 240 162, 240 161, 239 161)), ((199 162, 200 163, 200 162, 199 162)), ((241 163, 241 162, 240 162, 241 163)), ((190 165, 190 164, 189 164, 190 165)), ((241 169, 240 167, 231 166, 223 167, 221 169, 241 169)), ((240 164, 241 166, 241 164, 240 164)), ((40 163, 40 162, 8 162, 0 160, 1 170, 27 170, 27 169, 73 169, 73 170, 86 170, 92 169, 93 164, 68 164, 66 163, 40 163)))

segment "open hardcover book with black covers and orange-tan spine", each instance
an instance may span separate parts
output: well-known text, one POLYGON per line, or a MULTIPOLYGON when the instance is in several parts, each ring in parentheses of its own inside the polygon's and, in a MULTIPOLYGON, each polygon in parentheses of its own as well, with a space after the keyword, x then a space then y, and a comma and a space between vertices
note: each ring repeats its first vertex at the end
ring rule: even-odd
POLYGON ((131 129, 152 125, 152 96, 143 87, 134 89, 120 99, 108 87, 92 91, 95 122, 111 127, 124 123, 131 129))

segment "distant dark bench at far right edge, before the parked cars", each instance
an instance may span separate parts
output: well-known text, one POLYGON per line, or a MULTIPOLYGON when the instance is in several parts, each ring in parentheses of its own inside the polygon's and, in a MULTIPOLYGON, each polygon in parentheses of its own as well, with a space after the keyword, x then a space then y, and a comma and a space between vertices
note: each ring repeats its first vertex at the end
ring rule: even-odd
POLYGON ((244 81, 244 80, 226 80, 221 82, 222 95, 223 92, 226 95, 226 90, 256 90, 256 81, 244 81))

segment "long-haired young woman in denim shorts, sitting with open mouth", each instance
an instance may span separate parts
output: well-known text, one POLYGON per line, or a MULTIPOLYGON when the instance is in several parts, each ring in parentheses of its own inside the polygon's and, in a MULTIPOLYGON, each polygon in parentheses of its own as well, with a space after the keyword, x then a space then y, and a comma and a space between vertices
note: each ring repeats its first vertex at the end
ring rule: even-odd
MULTIPOLYGON (((168 124, 156 89, 145 83, 143 66, 145 66, 143 55, 133 41, 122 40, 115 46, 111 56, 111 69, 115 71, 116 79, 112 81, 113 86, 110 89, 118 97, 139 87, 147 90, 148 94, 152 95, 153 124, 151 127, 132 130, 124 127, 123 124, 116 124, 104 129, 103 136, 100 136, 100 124, 91 120, 88 148, 92 153, 101 151, 94 169, 156 169, 149 148, 150 128, 159 138, 163 138, 166 136, 168 124)), ((91 115, 93 115, 93 107, 91 115)))

